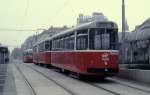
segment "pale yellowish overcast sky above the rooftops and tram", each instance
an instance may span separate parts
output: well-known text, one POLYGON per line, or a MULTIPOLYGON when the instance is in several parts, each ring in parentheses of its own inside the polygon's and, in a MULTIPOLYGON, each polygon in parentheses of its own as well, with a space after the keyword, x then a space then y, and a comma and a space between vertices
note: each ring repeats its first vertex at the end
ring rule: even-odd
MULTIPOLYGON (((102 12, 121 30, 122 0, 0 0, 0 29, 72 26, 79 13, 102 12)), ((130 30, 150 17, 150 0, 125 0, 130 30)), ((35 31, 0 31, 0 43, 20 46, 35 31)))

